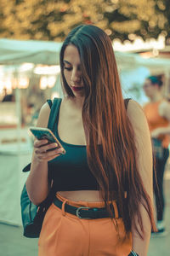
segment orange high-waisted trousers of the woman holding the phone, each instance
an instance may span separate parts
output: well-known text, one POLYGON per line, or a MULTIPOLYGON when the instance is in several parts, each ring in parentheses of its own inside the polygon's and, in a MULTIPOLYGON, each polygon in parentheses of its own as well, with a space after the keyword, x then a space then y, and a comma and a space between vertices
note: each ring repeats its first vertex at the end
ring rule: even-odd
POLYGON ((132 236, 125 236, 122 218, 83 219, 65 212, 65 202, 74 207, 104 207, 103 202, 64 201, 62 209, 48 208, 38 241, 38 256, 127 256, 132 236), (117 224, 117 228, 116 228, 117 224))

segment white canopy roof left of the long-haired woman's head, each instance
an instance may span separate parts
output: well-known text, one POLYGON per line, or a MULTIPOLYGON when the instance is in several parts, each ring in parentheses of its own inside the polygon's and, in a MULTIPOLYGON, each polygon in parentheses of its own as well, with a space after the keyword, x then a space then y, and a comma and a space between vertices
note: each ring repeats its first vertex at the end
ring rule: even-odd
POLYGON ((56 65, 59 64, 60 47, 61 43, 56 42, 0 39, 0 64, 56 65))

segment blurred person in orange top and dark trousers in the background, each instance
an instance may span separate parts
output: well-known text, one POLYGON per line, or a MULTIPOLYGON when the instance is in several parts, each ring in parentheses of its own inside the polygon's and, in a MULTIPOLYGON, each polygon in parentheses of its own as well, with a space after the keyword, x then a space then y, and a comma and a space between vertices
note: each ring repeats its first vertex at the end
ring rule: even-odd
MULTIPOLYGON (((161 94, 162 82, 156 76, 150 76, 144 82, 144 93, 150 102, 144 105, 144 113, 150 127, 150 135, 155 148, 156 179, 154 178, 154 193, 156 197, 156 236, 165 235, 165 223, 163 219, 165 201, 163 193, 163 176, 165 165, 169 156, 168 145, 170 143, 170 103, 163 99, 161 94)), ((155 172, 154 172, 155 173, 155 172)))

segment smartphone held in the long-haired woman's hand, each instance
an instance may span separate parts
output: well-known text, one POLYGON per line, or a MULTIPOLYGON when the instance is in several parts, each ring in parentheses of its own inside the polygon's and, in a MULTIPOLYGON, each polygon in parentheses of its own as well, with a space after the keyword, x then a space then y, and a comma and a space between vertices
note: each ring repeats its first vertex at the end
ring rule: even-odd
MULTIPOLYGON (((30 127, 31 133, 37 137, 38 140, 47 139, 48 143, 57 143, 58 147, 56 148, 63 148, 61 143, 59 143, 59 140, 54 136, 53 131, 49 130, 48 128, 42 128, 42 127, 30 127)), ((49 150, 54 150, 56 148, 50 148, 49 150)), ((65 148, 62 154, 65 154, 65 148)))

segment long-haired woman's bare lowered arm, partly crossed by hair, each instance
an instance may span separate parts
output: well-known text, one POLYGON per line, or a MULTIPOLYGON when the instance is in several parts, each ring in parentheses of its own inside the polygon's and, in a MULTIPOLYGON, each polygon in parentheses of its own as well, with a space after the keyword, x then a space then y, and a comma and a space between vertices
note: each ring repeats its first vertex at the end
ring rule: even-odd
MULTIPOLYGON (((133 125, 135 143, 138 149, 139 158, 137 159, 139 174, 142 178, 144 189, 147 191, 150 196, 151 201, 153 202, 153 191, 152 191, 152 149, 150 142, 150 131, 145 118, 142 108, 137 102, 130 101, 128 103, 127 115, 133 125)), ((148 252, 148 247, 150 243, 150 218, 145 211, 142 204, 140 205, 140 212, 142 216, 142 221, 144 225, 144 240, 139 236, 136 230, 133 227, 133 250, 136 253, 139 253, 140 256, 146 256, 148 252)), ((135 218, 134 222, 137 224, 137 227, 140 230, 138 219, 135 218)))

